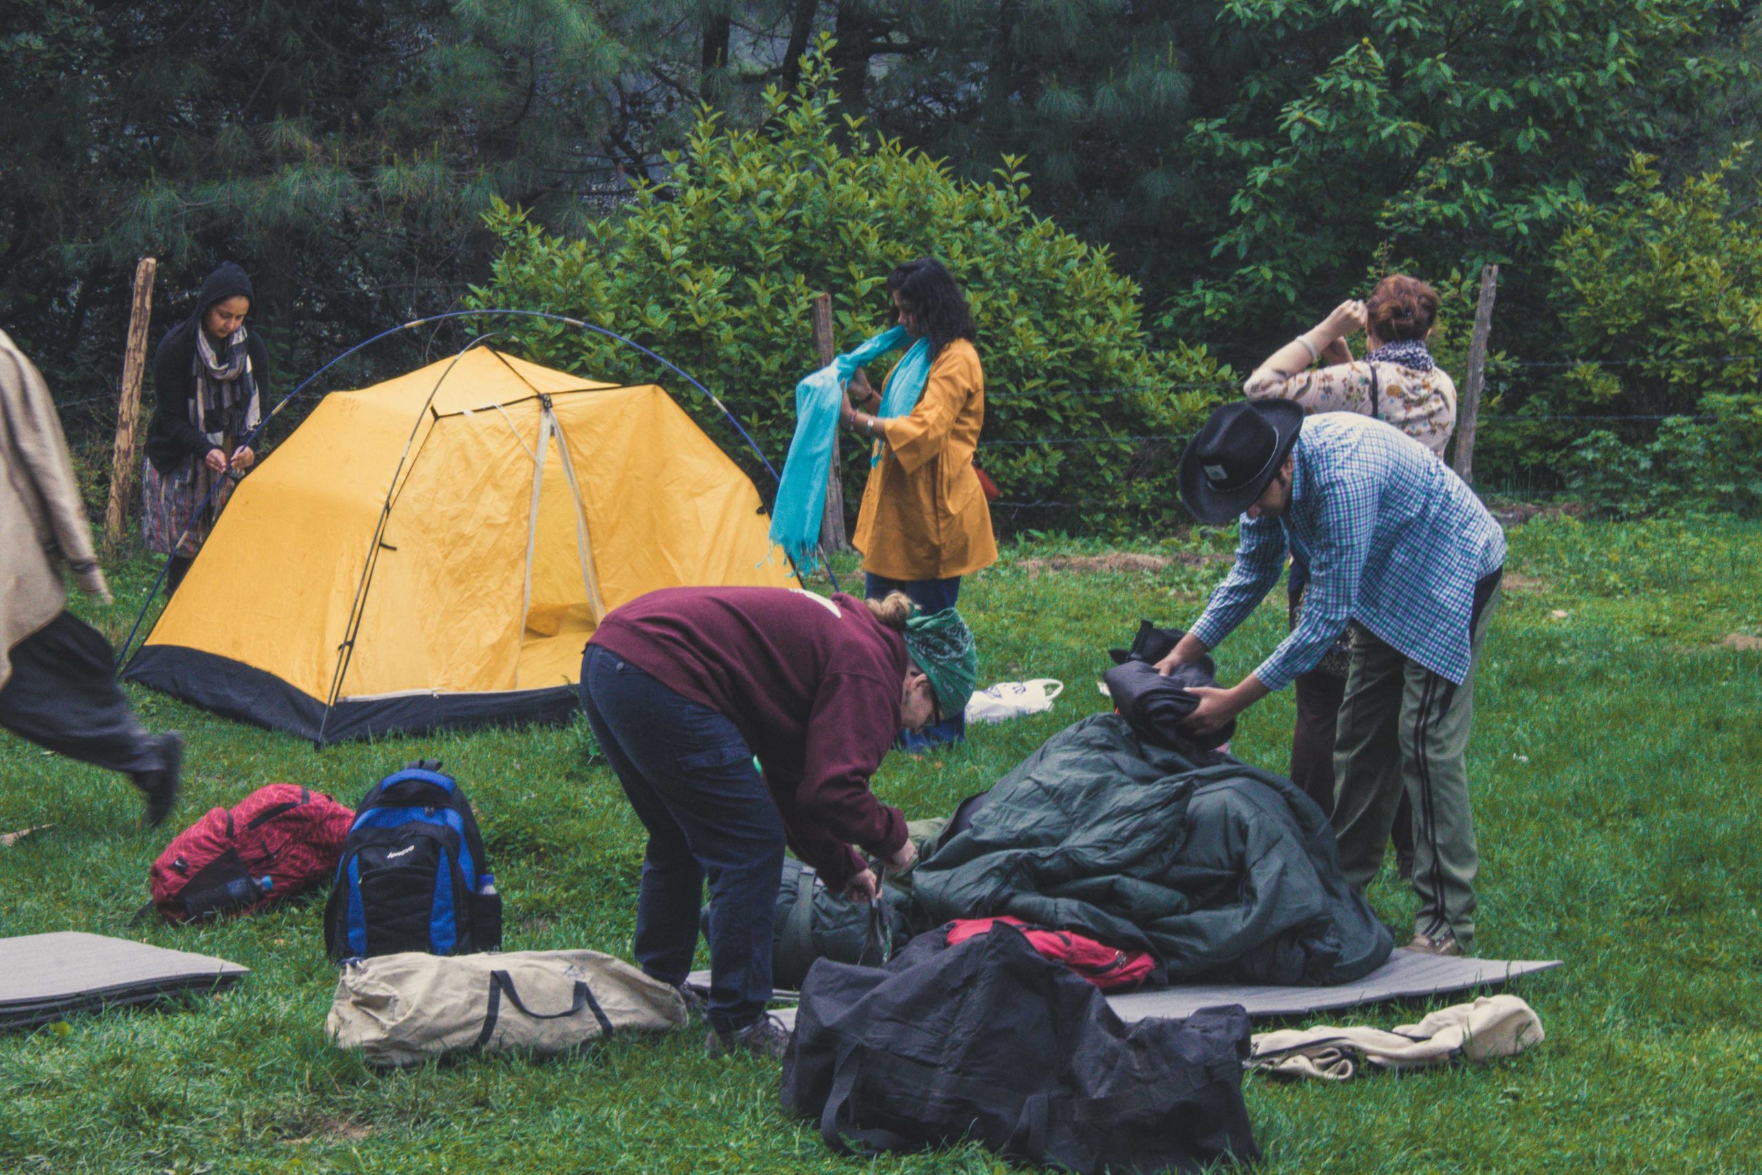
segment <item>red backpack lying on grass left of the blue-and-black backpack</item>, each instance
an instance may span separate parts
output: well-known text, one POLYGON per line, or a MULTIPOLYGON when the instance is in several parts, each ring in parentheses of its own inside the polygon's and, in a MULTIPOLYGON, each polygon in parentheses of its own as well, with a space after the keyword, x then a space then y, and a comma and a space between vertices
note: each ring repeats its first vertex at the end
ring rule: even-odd
MULTIPOLYGON (((329 881, 354 812, 296 784, 268 784, 173 837, 146 870, 166 921, 243 914, 329 881)), ((144 911, 143 911, 144 913, 144 911)))

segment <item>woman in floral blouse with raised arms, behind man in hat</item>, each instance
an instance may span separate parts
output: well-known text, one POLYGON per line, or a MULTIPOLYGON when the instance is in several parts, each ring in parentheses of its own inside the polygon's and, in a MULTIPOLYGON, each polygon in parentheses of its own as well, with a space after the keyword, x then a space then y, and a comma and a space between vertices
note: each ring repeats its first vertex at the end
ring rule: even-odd
MULTIPOLYGON (((1387 421, 1443 458, 1455 432, 1455 382, 1425 349, 1438 319, 1438 294, 1425 282, 1392 273, 1366 301, 1348 299, 1322 322, 1274 351, 1242 391, 1249 400, 1292 400, 1314 412, 1359 412, 1387 421), (1346 342, 1364 331, 1366 354, 1353 361, 1346 342), (1322 363, 1323 366, 1314 366, 1322 363)), ((1290 624, 1302 615, 1309 569, 1292 560, 1290 624)), ((1334 743, 1346 694, 1350 636, 1295 682, 1292 780, 1334 814, 1334 743)), ((1413 805, 1406 794, 1394 824, 1396 868, 1413 872, 1413 805)))

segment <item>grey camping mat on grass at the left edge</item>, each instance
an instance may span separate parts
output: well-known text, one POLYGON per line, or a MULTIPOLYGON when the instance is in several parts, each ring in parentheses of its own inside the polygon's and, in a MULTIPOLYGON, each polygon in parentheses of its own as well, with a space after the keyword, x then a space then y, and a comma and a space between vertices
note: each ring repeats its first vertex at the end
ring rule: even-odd
POLYGON ((28 1029, 85 1008, 146 1004, 250 974, 224 958, 60 930, 0 939, 0 1029, 28 1029))

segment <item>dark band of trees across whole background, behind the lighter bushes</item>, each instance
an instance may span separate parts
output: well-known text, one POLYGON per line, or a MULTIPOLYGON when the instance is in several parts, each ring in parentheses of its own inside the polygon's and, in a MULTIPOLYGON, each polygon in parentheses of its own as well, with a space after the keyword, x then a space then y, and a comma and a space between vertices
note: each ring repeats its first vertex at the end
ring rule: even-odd
MULTIPOLYGON (((1757 136, 1758 11, 0 0, 0 322, 63 400, 102 400, 136 257, 160 259, 155 335, 233 257, 259 278, 280 370, 310 372, 384 324, 458 305, 488 273, 497 199, 583 234, 633 203, 633 181, 670 180, 666 151, 687 144, 700 102, 759 125, 768 90, 793 93, 803 49, 830 35, 839 111, 860 122, 833 120, 835 143, 867 134, 976 183, 1033 171, 1024 215, 1108 247, 1159 344, 1203 342, 1247 366, 1399 266, 1445 294, 1438 342, 1461 375, 1475 275, 1499 261, 1505 356, 1482 463, 1558 483, 1572 437, 1533 444, 1531 425, 1499 425, 1535 396, 1529 412, 1545 414, 1607 393, 1589 375, 1514 375, 1561 359, 1577 331, 1558 314, 1551 250, 1584 210, 1621 206, 1635 151, 1674 185, 1757 136)), ((652 199, 673 197, 663 183, 652 199)))

